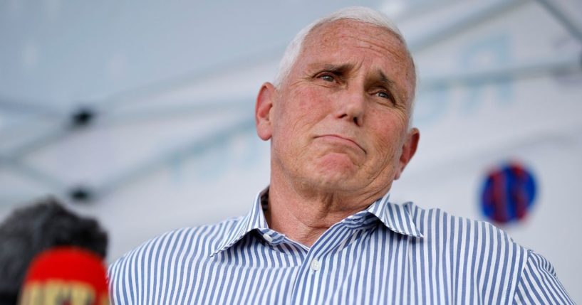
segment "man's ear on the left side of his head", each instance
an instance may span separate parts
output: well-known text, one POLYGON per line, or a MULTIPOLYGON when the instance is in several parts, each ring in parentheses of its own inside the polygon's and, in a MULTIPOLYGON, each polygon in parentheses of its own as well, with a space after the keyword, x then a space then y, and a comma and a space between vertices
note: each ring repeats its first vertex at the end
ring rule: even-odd
POLYGON ((273 135, 273 121, 271 109, 276 96, 276 89, 270 82, 265 82, 259 90, 256 97, 256 106, 254 108, 254 119, 256 124, 256 134, 264 141, 271 139, 273 135))

